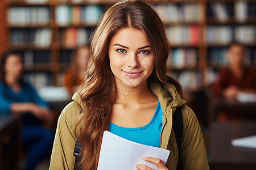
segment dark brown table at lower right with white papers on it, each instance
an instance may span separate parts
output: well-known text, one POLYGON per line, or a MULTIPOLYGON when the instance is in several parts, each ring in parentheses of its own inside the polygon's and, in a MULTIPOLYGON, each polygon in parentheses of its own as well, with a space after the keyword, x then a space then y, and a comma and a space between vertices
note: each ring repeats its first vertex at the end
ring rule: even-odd
POLYGON ((256 149, 234 147, 232 139, 256 134, 256 121, 214 121, 210 127, 210 169, 256 169, 256 149))

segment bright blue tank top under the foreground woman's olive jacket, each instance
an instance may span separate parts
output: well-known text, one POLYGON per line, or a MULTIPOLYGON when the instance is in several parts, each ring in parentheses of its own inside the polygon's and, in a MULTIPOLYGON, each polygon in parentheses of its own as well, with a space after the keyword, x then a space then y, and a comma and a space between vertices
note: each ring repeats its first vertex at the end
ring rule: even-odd
POLYGON ((147 125, 138 128, 124 128, 110 122, 109 131, 129 141, 148 146, 160 147, 160 133, 162 125, 162 108, 158 101, 154 116, 147 125))

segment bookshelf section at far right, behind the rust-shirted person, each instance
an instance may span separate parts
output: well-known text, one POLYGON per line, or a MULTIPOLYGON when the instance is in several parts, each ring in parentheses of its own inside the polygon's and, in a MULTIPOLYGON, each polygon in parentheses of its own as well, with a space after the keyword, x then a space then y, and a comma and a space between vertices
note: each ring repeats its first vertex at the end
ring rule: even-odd
MULTIPOLYGON (((225 67, 226 50, 232 42, 245 46, 245 67, 256 68, 256 1, 207 1, 206 76, 214 77, 225 67)), ((206 82, 210 84, 212 80, 206 82)))

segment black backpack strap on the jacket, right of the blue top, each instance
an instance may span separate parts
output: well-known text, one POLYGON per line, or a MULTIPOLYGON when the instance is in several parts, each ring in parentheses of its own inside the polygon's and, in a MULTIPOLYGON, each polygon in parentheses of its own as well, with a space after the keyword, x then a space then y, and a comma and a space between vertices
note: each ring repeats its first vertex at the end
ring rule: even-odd
POLYGON ((172 116, 172 129, 174 130, 175 139, 178 149, 178 160, 177 160, 177 170, 180 169, 180 141, 183 135, 183 117, 181 108, 177 107, 174 115, 172 116))

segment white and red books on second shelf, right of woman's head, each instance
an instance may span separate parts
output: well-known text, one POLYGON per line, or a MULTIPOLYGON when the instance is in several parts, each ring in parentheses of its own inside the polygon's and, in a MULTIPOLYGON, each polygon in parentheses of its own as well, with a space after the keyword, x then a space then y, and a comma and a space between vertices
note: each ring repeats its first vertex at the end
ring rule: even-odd
POLYGON ((166 27, 171 45, 198 45, 199 27, 197 25, 175 25, 166 27))

